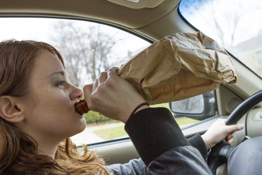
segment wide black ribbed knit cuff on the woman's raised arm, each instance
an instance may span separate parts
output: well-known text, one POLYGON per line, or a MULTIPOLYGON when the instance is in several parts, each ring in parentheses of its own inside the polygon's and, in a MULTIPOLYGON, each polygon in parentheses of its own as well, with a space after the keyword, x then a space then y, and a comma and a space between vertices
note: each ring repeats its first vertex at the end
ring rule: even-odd
POLYGON ((146 166, 172 148, 190 146, 171 112, 163 107, 146 108, 133 114, 125 130, 146 166))

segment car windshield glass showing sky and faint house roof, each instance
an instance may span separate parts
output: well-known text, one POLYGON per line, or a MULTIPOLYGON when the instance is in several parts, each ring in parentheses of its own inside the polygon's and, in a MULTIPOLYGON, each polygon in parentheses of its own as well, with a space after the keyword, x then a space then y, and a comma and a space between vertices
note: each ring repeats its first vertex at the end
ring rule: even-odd
POLYGON ((262 77, 261 0, 182 0, 179 11, 262 77))

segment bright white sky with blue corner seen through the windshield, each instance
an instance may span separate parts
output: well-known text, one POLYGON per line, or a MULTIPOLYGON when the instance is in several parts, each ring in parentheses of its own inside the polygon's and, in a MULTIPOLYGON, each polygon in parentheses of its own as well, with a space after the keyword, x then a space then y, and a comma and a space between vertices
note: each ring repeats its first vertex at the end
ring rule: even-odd
POLYGON ((180 11, 193 26, 220 42, 218 25, 224 35, 224 47, 230 44, 232 33, 235 33, 233 45, 237 45, 262 32, 261 0, 183 0, 180 11))

